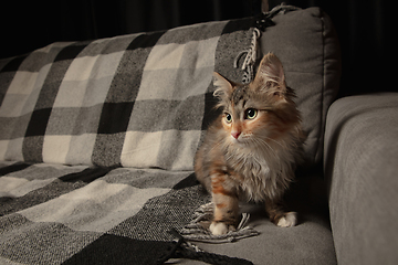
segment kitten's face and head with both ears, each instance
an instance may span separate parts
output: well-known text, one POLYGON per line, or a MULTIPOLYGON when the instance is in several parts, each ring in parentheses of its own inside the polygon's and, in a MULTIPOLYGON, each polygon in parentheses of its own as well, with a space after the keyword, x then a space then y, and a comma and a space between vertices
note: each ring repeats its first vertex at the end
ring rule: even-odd
POLYGON ((264 56, 254 81, 234 84, 214 74, 223 108, 221 123, 226 140, 232 145, 261 146, 275 141, 300 123, 300 115, 286 87, 281 62, 273 54, 264 56))

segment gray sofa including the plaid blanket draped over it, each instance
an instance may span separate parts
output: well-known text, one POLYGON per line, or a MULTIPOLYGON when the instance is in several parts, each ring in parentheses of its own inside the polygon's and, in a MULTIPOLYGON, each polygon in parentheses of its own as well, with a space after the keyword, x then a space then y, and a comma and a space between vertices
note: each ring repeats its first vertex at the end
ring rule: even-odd
POLYGON ((341 63, 328 15, 291 6, 1 60, 0 264, 397 264, 398 94, 336 98, 341 63), (248 83, 268 52, 306 136, 298 224, 243 203, 241 231, 192 240, 212 72, 248 83))

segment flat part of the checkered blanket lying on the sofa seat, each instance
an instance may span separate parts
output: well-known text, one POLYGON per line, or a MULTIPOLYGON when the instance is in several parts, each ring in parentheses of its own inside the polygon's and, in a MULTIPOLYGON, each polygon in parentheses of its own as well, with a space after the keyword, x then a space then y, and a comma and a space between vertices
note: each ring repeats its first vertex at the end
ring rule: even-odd
POLYGON ((13 163, 0 173, 0 264, 154 264, 168 231, 209 200, 189 171, 13 163))

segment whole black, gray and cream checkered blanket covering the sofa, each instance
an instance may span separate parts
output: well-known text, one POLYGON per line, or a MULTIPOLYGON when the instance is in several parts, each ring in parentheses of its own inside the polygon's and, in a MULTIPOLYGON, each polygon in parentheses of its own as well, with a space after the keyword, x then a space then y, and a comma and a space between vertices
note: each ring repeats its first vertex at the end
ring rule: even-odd
POLYGON ((0 263, 164 258, 176 246, 168 231, 209 201, 192 163, 216 115, 211 76, 244 77, 238 55, 250 53, 252 24, 53 43, 1 60, 0 263))

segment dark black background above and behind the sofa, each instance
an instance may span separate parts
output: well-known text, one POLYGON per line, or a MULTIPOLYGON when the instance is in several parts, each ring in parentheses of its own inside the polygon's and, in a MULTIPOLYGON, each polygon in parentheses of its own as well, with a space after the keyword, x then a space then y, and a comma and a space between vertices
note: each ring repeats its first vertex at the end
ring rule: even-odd
MULTIPOLYGON (((321 7, 337 30, 343 57, 341 96, 398 91, 392 3, 386 0, 270 0, 321 7), (391 34, 392 33, 392 34, 391 34)), ((1 3, 0 57, 23 54, 55 41, 83 41, 198 22, 250 17, 261 0, 53 0, 1 3)))

